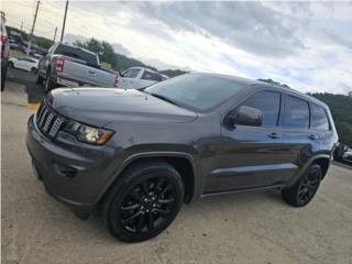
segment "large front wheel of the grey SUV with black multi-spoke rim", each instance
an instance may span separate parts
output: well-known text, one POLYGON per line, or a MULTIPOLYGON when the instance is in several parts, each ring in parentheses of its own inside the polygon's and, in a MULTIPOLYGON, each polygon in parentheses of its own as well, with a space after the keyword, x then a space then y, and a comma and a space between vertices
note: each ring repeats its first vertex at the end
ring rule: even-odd
POLYGON ((165 162, 141 163, 128 168, 102 204, 110 233, 125 242, 141 242, 163 232, 176 218, 184 184, 165 162))

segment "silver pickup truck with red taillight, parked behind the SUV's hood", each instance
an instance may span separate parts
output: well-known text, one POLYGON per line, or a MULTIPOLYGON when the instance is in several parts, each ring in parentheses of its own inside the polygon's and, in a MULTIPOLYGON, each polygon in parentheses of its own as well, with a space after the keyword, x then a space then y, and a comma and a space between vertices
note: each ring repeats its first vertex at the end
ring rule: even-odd
POLYGON ((45 91, 56 87, 118 87, 119 74, 99 66, 97 54, 77 46, 56 43, 40 59, 37 84, 45 91))

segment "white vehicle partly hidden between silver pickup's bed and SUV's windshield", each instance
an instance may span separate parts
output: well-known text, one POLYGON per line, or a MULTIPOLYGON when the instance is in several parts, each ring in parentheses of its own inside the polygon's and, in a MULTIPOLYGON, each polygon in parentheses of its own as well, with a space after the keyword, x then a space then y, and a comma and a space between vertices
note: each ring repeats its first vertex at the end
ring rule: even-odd
POLYGON ((165 80, 166 75, 156 73, 145 67, 131 67, 121 75, 120 88, 140 89, 165 80))

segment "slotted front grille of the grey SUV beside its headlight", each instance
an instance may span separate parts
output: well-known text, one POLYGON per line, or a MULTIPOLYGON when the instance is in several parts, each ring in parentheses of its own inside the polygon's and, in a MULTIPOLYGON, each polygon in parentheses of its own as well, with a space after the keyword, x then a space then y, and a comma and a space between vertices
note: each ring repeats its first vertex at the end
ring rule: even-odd
POLYGON ((64 123, 64 118, 54 112, 50 107, 42 103, 36 113, 36 125, 43 134, 55 138, 64 123))

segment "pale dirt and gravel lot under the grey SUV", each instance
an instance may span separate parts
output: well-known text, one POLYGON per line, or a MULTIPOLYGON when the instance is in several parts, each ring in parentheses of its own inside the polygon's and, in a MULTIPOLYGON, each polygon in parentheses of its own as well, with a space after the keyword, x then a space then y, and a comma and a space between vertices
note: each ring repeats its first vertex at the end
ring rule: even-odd
POLYGON ((352 263, 349 166, 331 166, 302 209, 276 191, 211 197, 184 206, 156 239, 116 241, 98 213, 78 220, 34 178, 24 89, 9 82, 1 99, 2 263, 352 263))

